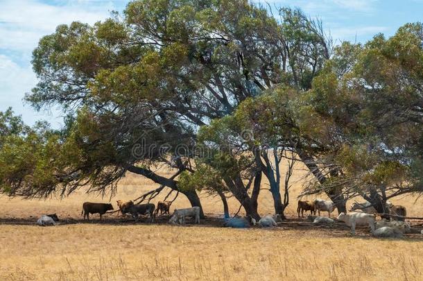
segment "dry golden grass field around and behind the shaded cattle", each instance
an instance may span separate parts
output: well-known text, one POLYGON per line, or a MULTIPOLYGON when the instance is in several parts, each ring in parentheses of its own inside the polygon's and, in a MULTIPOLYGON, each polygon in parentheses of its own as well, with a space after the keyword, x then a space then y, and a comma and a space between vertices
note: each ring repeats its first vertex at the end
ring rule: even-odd
MULTIPOLYGON (((287 210, 293 222, 272 230, 222 228, 216 223, 223 212, 220 199, 207 194, 201 194, 202 204, 212 219, 187 226, 148 225, 114 216, 100 223, 96 215, 83 222, 84 201, 108 202, 110 197, 82 190, 62 200, 1 197, 0 280, 423 280, 420 235, 374 239, 361 229, 351 237, 342 226, 313 227, 295 219, 304 176, 297 167, 287 210), (40 214, 52 212, 62 219, 60 225, 35 225, 40 214)), ((136 198, 155 187, 128 176, 111 202, 116 207, 117 199, 136 198)), ((260 213, 267 214, 272 201, 266 182, 263 188, 260 213)), ((411 216, 423 216, 423 199, 399 198, 394 203, 406 205, 411 216)), ((180 196, 172 209, 188 206, 180 196)), ((230 199, 230 208, 236 212, 239 205, 230 199)))

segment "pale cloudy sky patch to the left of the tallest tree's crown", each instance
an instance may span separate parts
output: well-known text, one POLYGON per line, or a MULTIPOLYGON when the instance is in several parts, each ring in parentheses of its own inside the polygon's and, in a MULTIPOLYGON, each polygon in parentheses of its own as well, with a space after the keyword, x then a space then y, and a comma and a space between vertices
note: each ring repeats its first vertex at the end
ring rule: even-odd
POLYGON ((12 106, 28 124, 48 119, 58 126, 57 110, 51 114, 38 113, 23 105, 24 94, 37 83, 31 53, 40 38, 53 33, 59 24, 74 21, 94 24, 107 18, 114 9, 113 1, 0 0, 0 110, 12 106))

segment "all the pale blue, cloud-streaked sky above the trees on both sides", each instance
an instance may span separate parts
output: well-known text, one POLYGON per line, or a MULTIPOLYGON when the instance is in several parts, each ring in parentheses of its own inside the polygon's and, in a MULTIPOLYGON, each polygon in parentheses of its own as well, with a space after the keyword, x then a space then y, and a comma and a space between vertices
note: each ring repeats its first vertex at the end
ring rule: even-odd
MULTIPOLYGON (((265 1, 256 1, 262 2, 265 1)), ((93 24, 122 11, 126 0, 0 0, 0 111, 12 107, 24 121, 45 119, 62 124, 56 109, 35 112, 22 99, 37 82, 31 53, 43 35, 58 24, 72 21, 93 24)), ((407 22, 423 22, 423 0, 268 0, 270 6, 291 6, 310 17, 320 17, 331 36, 365 42, 376 33, 387 36, 407 22)))

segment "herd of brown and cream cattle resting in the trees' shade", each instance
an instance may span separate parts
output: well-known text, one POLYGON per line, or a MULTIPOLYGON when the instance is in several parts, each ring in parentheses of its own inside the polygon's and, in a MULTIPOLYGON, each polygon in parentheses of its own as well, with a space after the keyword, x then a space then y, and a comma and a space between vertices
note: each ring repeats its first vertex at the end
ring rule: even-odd
MULTIPOLYGON (((89 214, 99 214, 100 220, 103 219, 103 214, 108 211, 118 212, 121 216, 132 216, 132 219, 139 221, 139 216, 145 216, 148 222, 153 223, 155 217, 163 214, 171 214, 171 203, 170 201, 159 201, 157 207, 152 203, 146 204, 135 204, 133 201, 123 202, 121 200, 116 201, 119 210, 114 211, 112 204, 110 203, 83 203, 83 212, 81 215, 84 216, 84 220, 89 221, 89 214)), ((377 221, 377 211, 374 207, 366 203, 355 202, 351 211, 345 214, 341 212, 338 214, 336 219, 331 218, 331 212, 334 212, 336 205, 331 201, 325 201, 322 199, 316 199, 314 201, 298 201, 297 215, 298 218, 301 216, 304 218, 304 212, 310 212, 307 219, 313 224, 317 225, 333 225, 334 223, 345 223, 351 228, 352 235, 356 234, 356 227, 369 227, 371 234, 374 237, 403 237, 405 233, 411 232, 411 225, 406 223, 406 208, 401 205, 393 205, 390 201, 386 201, 386 213, 390 217, 389 220, 382 219, 377 221), (327 216, 320 216, 320 212, 327 212, 327 216), (317 214, 317 215, 316 215, 317 214)), ((200 224, 200 207, 189 207, 184 209, 175 209, 173 215, 169 220, 171 224, 183 225, 186 223, 186 218, 191 217, 194 223, 200 224)), ((230 228, 249 228, 251 225, 258 224, 261 228, 273 228, 277 226, 277 221, 281 218, 279 214, 272 216, 266 215, 261 217, 257 222, 251 216, 245 217, 234 217, 225 218, 223 225, 230 228)), ((56 214, 42 215, 37 221, 37 225, 48 226, 56 225, 59 219, 56 214)), ((421 230, 423 234, 423 230, 421 230)))

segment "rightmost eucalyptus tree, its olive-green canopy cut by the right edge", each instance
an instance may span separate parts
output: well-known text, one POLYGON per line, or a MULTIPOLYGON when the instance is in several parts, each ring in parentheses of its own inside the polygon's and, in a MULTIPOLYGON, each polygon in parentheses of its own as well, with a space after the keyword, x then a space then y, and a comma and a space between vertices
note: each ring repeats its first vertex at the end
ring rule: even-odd
POLYGON ((423 190, 422 42, 416 23, 344 43, 313 80, 299 120, 327 148, 316 155, 329 180, 317 188, 363 196, 379 212, 387 199, 423 190))

